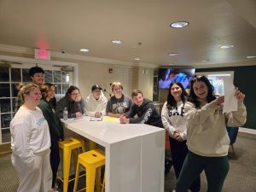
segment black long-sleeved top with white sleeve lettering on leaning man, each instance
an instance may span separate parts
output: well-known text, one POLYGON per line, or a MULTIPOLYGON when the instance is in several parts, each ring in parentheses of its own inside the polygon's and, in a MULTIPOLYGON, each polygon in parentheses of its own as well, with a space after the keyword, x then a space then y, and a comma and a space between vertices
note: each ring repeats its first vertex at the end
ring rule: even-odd
POLYGON ((153 102, 148 99, 143 99, 143 104, 138 107, 136 104, 131 105, 131 110, 127 116, 131 124, 148 124, 158 127, 163 127, 161 116, 154 108, 153 102), (134 116, 137 114, 137 118, 134 116))

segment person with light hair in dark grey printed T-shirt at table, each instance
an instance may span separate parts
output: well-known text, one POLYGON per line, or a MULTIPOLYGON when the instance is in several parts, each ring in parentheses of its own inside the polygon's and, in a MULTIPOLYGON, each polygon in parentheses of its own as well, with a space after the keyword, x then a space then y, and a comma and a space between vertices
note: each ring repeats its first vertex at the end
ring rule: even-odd
POLYGON ((131 108, 131 98, 123 94, 123 85, 119 82, 113 82, 113 96, 110 97, 107 103, 106 113, 108 116, 117 117, 127 114, 131 108))

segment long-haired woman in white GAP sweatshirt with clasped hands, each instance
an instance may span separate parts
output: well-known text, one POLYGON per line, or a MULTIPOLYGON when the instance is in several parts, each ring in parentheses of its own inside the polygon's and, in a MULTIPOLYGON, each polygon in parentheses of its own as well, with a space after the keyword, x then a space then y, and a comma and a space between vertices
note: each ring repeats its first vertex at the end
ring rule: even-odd
MULTIPOLYGON (((176 178, 178 178, 183 167, 183 162, 188 154, 187 140, 187 121, 184 117, 184 104, 187 99, 187 92, 183 84, 172 82, 170 84, 167 102, 165 102, 161 118, 164 127, 169 132, 169 141, 171 146, 172 163, 176 178)), ((200 176, 195 179, 189 189, 192 192, 200 191, 200 176)), ((175 191, 175 190, 173 190, 175 191)))

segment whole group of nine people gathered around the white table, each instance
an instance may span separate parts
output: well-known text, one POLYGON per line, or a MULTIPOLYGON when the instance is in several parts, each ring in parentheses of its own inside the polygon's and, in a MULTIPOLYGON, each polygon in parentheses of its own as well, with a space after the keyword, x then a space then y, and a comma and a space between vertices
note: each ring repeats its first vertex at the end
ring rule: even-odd
POLYGON ((220 192, 229 171, 230 146, 226 126, 246 121, 244 95, 236 89, 236 112, 223 113, 224 96, 216 98, 213 86, 202 76, 191 81, 189 95, 183 84, 172 82, 161 114, 143 92, 123 94, 123 86, 113 82, 113 96, 107 99, 100 85, 91 87, 83 100, 78 87, 71 85, 55 102, 54 84, 44 84, 44 70, 30 69, 32 84, 20 86, 17 112, 11 121, 12 163, 19 175, 19 192, 57 191, 55 179, 60 164, 58 142, 63 139, 61 120, 82 115, 119 118, 120 124, 148 124, 165 128, 170 136, 171 154, 177 177, 177 192, 200 191, 200 174, 207 175, 208 191, 220 192))

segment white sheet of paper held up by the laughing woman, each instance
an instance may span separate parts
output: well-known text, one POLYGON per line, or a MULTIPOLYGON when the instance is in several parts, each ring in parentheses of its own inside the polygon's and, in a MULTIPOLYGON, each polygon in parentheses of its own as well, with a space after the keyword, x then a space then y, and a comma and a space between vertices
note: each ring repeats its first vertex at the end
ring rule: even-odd
POLYGON ((237 111, 237 99, 235 95, 235 86, 231 77, 223 77, 224 81, 224 108, 223 112, 237 111))

